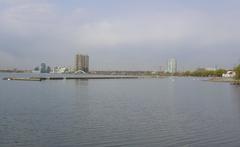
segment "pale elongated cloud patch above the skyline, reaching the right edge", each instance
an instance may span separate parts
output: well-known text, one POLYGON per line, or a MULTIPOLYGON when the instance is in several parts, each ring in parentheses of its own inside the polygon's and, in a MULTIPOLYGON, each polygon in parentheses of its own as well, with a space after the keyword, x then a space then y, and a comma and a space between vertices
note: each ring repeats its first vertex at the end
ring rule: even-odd
POLYGON ((166 46, 211 46, 237 43, 240 32, 206 14, 175 13, 154 18, 106 20, 76 27, 76 38, 85 46, 118 46, 155 44, 166 46))

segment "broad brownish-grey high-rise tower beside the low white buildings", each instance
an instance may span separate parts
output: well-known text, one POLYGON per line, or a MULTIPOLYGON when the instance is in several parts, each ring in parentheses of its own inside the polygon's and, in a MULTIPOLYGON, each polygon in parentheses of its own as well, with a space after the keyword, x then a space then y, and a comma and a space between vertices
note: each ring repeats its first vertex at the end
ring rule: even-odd
POLYGON ((75 71, 82 70, 84 72, 89 71, 89 56, 77 54, 75 56, 75 71))

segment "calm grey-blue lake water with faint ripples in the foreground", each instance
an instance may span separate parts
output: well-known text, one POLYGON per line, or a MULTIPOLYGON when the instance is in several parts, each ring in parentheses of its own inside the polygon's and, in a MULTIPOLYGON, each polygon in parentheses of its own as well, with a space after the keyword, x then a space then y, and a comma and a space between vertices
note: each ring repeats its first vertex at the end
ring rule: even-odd
POLYGON ((0 146, 237 147, 240 87, 194 78, 0 80, 0 146))

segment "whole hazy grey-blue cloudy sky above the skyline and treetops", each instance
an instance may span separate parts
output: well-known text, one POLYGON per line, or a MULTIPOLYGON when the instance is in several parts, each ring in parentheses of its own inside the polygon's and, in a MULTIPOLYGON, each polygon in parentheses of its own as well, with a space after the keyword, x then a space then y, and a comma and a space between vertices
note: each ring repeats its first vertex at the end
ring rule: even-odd
POLYGON ((232 68, 240 62, 239 0, 0 0, 0 68, 232 68))

